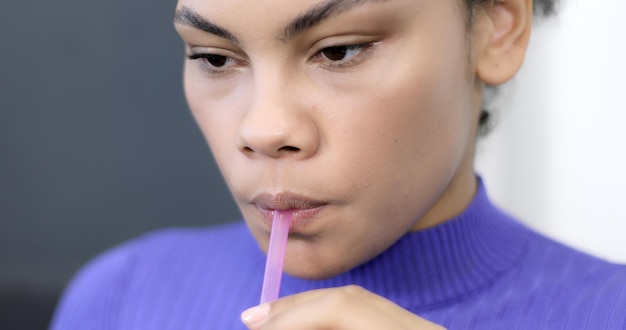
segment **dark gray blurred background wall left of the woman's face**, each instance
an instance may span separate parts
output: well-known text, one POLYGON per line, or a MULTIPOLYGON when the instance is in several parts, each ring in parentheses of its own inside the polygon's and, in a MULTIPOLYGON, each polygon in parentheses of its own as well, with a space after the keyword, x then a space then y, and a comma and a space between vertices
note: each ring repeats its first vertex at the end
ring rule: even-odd
POLYGON ((0 329, 155 228, 239 218, 184 101, 175 1, 0 6, 0 329))

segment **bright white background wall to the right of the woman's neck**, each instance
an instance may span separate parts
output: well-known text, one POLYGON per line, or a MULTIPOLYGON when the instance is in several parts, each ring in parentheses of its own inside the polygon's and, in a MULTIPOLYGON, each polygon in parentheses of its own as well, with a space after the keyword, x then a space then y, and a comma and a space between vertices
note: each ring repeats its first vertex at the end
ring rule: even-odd
POLYGON ((493 102, 477 167, 531 227, 626 262, 626 1, 561 1, 493 102))

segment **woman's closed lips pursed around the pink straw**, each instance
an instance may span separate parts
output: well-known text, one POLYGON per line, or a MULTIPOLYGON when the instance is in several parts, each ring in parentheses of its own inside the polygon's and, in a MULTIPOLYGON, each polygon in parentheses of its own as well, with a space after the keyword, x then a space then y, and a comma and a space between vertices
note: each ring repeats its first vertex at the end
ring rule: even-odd
POLYGON ((328 202, 290 192, 262 193, 255 196, 250 203, 254 205, 270 227, 276 211, 292 211, 291 232, 303 229, 329 205, 328 202))

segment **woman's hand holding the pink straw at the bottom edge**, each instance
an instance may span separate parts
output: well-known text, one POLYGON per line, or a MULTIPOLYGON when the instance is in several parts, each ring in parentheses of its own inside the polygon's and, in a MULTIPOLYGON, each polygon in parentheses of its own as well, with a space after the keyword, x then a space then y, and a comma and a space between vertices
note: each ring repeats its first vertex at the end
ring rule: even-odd
POLYGON ((307 291, 241 314, 250 330, 444 329, 358 286, 307 291))

